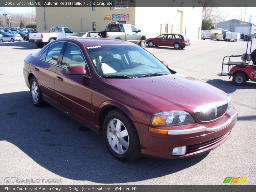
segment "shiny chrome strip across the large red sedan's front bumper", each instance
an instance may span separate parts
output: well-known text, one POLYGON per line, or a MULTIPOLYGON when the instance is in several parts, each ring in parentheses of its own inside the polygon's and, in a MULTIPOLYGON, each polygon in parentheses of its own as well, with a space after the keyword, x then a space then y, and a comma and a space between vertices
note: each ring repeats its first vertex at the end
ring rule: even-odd
POLYGON ((222 125, 212 127, 212 128, 207 128, 207 127, 202 125, 200 127, 191 128, 191 129, 168 130, 168 135, 185 135, 185 134, 197 133, 197 132, 202 132, 202 131, 209 131, 209 132, 218 131, 218 130, 223 129, 224 127, 226 127, 228 124, 230 124, 231 121, 233 119, 235 119, 236 117, 237 117, 237 111, 234 115, 230 116, 230 118, 228 119, 227 122, 225 122, 222 125))

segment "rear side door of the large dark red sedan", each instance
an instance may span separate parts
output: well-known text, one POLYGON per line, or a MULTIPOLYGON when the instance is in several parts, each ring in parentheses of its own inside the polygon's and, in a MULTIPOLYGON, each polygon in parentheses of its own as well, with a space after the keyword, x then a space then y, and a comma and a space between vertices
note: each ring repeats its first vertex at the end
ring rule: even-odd
POLYGON ((31 69, 34 71, 33 74, 40 85, 43 98, 54 104, 55 72, 64 44, 64 42, 57 42, 48 47, 31 69))

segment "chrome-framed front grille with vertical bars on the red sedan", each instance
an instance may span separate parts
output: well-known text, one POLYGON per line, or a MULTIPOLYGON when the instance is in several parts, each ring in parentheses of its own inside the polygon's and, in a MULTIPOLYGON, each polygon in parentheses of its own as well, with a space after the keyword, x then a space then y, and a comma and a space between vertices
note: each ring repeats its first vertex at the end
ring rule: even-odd
POLYGON ((194 114, 196 115, 199 121, 210 122, 219 119, 221 116, 223 116, 226 113, 227 109, 228 103, 218 107, 210 108, 207 111, 194 112, 194 114))

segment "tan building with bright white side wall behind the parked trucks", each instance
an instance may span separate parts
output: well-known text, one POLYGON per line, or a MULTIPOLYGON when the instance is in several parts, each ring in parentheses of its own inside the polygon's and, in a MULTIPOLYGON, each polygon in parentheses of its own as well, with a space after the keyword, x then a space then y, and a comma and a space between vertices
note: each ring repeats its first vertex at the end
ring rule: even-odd
POLYGON ((122 9, 116 9, 115 5, 36 7, 37 30, 49 32, 53 26, 65 26, 74 32, 93 31, 93 28, 103 31, 110 21, 117 20, 135 25, 147 38, 163 33, 182 33, 190 39, 200 38, 201 7, 132 7, 132 3, 128 6, 122 9))

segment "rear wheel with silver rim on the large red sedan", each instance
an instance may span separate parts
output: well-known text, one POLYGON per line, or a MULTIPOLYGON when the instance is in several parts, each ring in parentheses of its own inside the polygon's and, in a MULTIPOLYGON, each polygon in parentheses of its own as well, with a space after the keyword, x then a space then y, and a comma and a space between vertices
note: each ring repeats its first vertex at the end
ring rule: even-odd
POLYGON ((36 77, 33 76, 30 80, 30 96, 31 96, 31 100, 32 103, 36 106, 36 107, 42 107, 44 106, 44 100, 42 97, 42 93, 40 91, 40 88, 38 86, 38 83, 36 81, 36 77))

